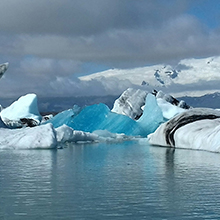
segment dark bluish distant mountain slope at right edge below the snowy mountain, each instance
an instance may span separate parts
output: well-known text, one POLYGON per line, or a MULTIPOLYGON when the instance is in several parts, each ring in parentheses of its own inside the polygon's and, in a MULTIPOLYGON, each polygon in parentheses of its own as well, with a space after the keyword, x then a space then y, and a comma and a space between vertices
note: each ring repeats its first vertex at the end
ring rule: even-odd
POLYGON ((179 100, 184 100, 188 105, 192 107, 205 107, 205 108, 217 108, 220 109, 220 93, 207 94, 200 97, 179 97, 179 100))

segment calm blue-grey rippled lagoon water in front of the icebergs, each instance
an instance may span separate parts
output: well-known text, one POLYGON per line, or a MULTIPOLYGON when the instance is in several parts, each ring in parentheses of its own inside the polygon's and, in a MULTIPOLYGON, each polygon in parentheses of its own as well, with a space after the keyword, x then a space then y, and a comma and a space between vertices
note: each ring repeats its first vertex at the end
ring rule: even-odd
POLYGON ((146 141, 0 151, 0 219, 220 219, 220 154, 146 141))

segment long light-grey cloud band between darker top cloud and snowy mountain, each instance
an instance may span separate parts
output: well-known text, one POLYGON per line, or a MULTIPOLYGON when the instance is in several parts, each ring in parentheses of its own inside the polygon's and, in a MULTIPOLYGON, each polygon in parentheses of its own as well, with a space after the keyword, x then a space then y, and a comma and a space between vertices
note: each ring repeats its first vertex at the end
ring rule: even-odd
MULTIPOLYGON (((218 33, 207 32, 194 17, 183 15, 159 28, 115 29, 88 37, 21 35, 17 48, 24 55, 106 63, 120 68, 216 55, 220 52, 219 42, 218 33)), ((15 49, 14 53, 18 51, 15 49)))

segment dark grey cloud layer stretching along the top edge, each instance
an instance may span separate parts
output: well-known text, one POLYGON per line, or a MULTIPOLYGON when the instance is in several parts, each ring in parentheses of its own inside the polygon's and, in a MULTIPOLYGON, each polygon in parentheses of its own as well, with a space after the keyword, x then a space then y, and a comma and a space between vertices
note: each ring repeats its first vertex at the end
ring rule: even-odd
POLYGON ((86 36, 109 29, 154 26, 185 9, 185 0, 2 0, 0 30, 86 36), (175 8, 173 10, 172 7, 175 8))

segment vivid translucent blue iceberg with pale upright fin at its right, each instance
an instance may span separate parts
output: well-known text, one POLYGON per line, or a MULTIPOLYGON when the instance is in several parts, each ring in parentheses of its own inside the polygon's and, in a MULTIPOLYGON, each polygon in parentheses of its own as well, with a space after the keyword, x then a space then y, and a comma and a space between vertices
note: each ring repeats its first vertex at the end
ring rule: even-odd
POLYGON ((52 123, 55 128, 66 124, 74 130, 85 132, 107 130, 111 133, 146 137, 163 122, 163 114, 155 96, 148 94, 143 115, 137 121, 126 115, 114 113, 101 103, 85 107, 81 111, 74 107, 59 113, 46 123, 52 123))

